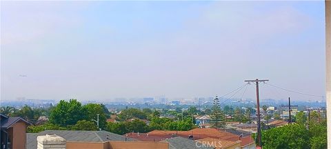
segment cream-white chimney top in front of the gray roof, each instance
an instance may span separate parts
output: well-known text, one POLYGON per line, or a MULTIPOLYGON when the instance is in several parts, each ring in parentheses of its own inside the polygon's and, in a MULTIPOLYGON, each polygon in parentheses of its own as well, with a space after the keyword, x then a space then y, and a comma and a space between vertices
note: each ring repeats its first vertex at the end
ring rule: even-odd
POLYGON ((66 149, 66 139, 55 134, 46 134, 37 137, 37 149, 66 149))

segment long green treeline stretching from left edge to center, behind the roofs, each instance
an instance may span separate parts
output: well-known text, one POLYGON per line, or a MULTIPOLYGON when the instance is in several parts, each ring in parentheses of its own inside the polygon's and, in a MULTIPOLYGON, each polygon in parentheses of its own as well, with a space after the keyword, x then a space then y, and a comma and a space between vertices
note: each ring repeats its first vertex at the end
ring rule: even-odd
POLYGON ((97 114, 99 114, 99 128, 101 130, 123 135, 128 132, 149 132, 152 130, 190 130, 195 128, 192 116, 196 114, 196 110, 196 108, 191 108, 187 112, 164 110, 163 114, 174 115, 174 117, 168 118, 160 117, 161 113, 157 110, 128 108, 121 110, 118 115, 114 114, 117 116, 116 122, 107 122, 112 113, 103 104, 88 103, 82 105, 77 99, 70 99, 70 101, 61 100, 57 106, 48 109, 32 109, 29 106, 24 106, 21 110, 17 110, 12 107, 3 107, 1 113, 9 116, 20 116, 32 122, 34 125, 28 126, 27 130, 32 133, 43 130, 98 130, 97 123, 92 119, 97 120, 97 114), (37 120, 41 116, 46 116, 49 120, 38 125, 37 120), (149 123, 141 121, 141 119, 146 119, 149 123))

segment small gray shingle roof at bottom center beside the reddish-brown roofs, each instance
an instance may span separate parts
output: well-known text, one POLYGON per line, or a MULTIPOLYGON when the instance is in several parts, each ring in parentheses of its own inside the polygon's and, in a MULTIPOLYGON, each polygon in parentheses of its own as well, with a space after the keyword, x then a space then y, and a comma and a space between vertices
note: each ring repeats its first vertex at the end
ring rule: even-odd
POLYGON ((174 137, 172 139, 166 139, 163 142, 169 143, 169 149, 212 149, 210 147, 203 147, 201 143, 183 137, 174 137))

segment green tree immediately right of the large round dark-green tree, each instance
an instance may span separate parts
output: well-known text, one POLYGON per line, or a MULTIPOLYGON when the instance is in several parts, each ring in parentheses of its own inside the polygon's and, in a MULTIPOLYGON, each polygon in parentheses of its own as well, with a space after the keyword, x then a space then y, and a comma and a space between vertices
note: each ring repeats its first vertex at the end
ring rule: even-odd
MULTIPOLYGON (((86 115, 86 120, 92 121, 92 119, 97 120, 97 114, 99 114, 99 128, 104 129, 107 126, 107 116, 104 112, 101 104, 98 103, 88 103, 83 108, 88 111, 88 115, 86 115)), ((97 123, 94 123, 97 125, 97 123)))

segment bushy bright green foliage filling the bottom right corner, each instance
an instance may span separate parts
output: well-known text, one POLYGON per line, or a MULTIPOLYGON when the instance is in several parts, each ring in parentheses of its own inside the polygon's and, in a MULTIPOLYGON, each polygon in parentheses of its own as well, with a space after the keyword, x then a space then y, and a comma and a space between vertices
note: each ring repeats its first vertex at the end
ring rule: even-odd
POLYGON ((301 123, 262 131, 263 148, 327 148, 326 121, 310 122, 309 130, 301 123))

